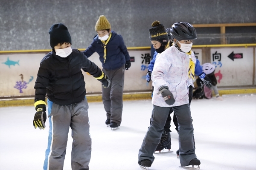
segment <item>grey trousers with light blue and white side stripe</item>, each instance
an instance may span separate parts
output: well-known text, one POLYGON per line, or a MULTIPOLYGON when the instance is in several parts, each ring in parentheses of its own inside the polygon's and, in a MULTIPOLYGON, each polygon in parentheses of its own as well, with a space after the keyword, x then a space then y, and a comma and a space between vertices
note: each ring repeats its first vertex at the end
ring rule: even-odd
POLYGON ((63 170, 69 128, 72 129, 72 170, 89 170, 91 138, 88 103, 84 99, 72 105, 57 105, 48 99, 49 137, 44 170, 63 170))

